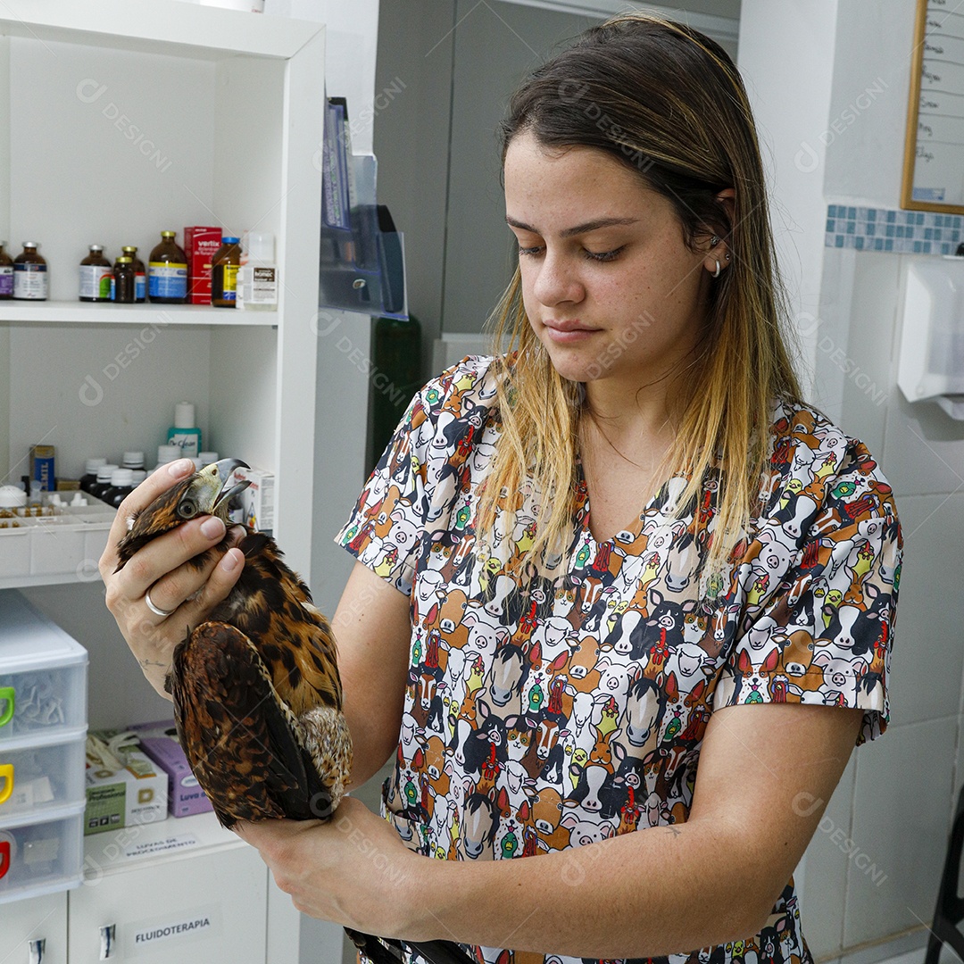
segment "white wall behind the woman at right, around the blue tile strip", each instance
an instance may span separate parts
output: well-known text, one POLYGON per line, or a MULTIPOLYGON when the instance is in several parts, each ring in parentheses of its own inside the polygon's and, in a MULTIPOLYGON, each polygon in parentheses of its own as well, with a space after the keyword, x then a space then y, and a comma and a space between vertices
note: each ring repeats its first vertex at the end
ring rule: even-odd
POLYGON ((772 145, 786 215, 782 227, 778 208, 774 225, 805 312, 814 400, 867 442, 904 534, 891 724, 851 757, 808 848, 801 897, 817 960, 911 930, 890 951, 849 958, 870 962, 924 946, 962 783, 964 423, 897 389, 910 255, 823 246, 827 203, 899 205, 915 4, 744 0, 742 9, 740 66, 772 145), (855 368, 870 385, 858 385, 855 368))

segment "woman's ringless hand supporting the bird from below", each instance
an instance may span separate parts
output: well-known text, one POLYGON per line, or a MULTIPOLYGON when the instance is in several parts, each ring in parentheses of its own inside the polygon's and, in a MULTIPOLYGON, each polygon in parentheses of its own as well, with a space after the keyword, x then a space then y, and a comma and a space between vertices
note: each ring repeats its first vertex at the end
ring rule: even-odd
POLYGON ((381 937, 404 936, 417 906, 418 855, 361 801, 344 797, 327 823, 264 820, 238 823, 234 832, 257 848, 298 910, 381 937))

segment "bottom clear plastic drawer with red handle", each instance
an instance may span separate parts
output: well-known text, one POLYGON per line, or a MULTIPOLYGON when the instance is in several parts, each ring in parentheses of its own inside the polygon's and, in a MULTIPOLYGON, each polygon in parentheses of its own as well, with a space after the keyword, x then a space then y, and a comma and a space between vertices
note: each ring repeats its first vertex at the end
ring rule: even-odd
POLYGON ((0 904, 76 887, 84 862, 83 804, 42 821, 0 820, 0 904))

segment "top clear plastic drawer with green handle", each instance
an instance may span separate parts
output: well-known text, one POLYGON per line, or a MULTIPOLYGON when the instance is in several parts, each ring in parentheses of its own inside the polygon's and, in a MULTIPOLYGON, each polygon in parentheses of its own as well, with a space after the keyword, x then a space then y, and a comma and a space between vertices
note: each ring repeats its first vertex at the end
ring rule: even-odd
POLYGON ((0 746, 86 726, 87 651, 16 590, 0 590, 0 746))

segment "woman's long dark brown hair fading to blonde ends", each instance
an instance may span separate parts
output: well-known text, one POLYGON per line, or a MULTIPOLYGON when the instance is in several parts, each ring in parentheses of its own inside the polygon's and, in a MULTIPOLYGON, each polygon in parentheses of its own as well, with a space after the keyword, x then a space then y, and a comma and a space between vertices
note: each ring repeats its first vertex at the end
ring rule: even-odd
MULTIPOLYGON (((523 132, 549 149, 594 147, 626 164, 670 201, 694 253, 712 234, 727 242, 731 260, 710 283, 676 438, 656 474, 660 484, 688 474, 682 514, 701 494, 707 469, 722 469, 712 532, 702 533, 703 576, 722 574, 759 499, 774 403, 800 398, 760 147, 739 73, 722 47, 683 24, 621 14, 587 30, 513 94, 500 130, 503 163, 523 132), (717 197, 726 188, 736 194, 732 217, 717 197)), ((517 563, 546 573, 545 555, 563 556, 572 539, 584 392, 556 372, 533 333, 518 267, 490 328, 502 432, 477 532, 483 544, 496 523, 511 532, 514 494, 531 478, 544 495, 535 541, 517 563)), ((706 522, 695 516, 699 529, 706 522)))

